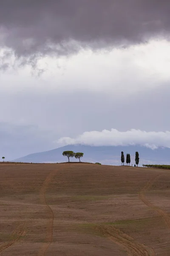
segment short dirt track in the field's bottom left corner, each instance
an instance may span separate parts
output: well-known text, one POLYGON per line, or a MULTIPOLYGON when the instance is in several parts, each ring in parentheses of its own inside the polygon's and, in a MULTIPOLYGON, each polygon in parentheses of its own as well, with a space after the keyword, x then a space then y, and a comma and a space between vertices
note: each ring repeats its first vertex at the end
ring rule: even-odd
POLYGON ((3 244, 0 244, 0 254, 3 253, 3 251, 6 250, 11 245, 14 245, 20 241, 22 236, 24 236, 26 234, 25 226, 26 226, 26 223, 22 223, 22 224, 18 225, 14 229, 9 240, 4 242, 3 244))

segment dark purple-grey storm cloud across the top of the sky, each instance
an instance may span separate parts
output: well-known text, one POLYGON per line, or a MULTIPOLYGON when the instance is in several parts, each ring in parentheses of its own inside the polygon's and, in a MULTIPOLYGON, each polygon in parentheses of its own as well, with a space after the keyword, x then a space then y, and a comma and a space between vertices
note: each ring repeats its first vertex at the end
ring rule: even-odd
POLYGON ((169 13, 168 0, 5 0, 0 43, 18 57, 125 46, 168 35, 169 13))

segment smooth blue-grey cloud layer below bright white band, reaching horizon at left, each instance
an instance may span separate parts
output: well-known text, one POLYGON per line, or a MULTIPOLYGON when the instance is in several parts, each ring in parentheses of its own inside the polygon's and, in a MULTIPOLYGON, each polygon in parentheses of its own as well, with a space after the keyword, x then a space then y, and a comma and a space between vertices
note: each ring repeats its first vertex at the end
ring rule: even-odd
POLYGON ((169 95, 169 84, 122 99, 103 92, 2 91, 0 154, 14 159, 50 150, 59 146, 60 137, 76 138, 85 131, 170 131, 169 95))

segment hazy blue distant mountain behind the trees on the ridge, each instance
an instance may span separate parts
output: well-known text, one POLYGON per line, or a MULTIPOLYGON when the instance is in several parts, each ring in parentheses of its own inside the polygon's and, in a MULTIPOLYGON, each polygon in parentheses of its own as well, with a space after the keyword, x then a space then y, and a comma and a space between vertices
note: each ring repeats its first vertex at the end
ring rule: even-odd
MULTIPOLYGON (((29 154, 25 157, 15 159, 16 162, 27 163, 61 163, 66 162, 67 157, 62 156, 62 152, 72 150, 74 152, 83 152, 83 162, 102 163, 107 165, 121 165, 121 151, 130 154, 131 163, 135 164, 135 152, 139 152, 139 166, 142 164, 170 164, 170 148, 157 148, 152 150, 139 145, 132 146, 88 146, 88 145, 66 145, 50 151, 29 154)), ((71 158, 70 161, 78 161, 71 158)), ((125 163, 126 164, 126 163, 125 163)))

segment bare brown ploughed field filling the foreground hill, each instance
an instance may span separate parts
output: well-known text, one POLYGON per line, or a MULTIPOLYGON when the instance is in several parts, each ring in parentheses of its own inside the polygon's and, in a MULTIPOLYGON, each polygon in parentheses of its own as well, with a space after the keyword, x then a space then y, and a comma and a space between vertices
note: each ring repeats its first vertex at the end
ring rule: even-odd
POLYGON ((0 255, 170 256, 170 171, 0 164, 0 255))

